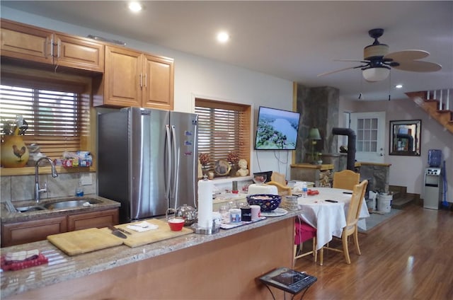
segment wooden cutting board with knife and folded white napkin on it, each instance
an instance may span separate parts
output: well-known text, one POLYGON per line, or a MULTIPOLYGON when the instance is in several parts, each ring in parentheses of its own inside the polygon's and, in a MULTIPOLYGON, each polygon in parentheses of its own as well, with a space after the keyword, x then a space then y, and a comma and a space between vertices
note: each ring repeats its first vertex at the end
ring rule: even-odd
MULTIPOLYGON (((126 234, 127 238, 118 238, 113 236, 113 238, 120 240, 125 245, 129 246, 130 248, 138 247, 147 245, 149 243, 155 243, 158 241, 164 241, 168 238, 176 238, 176 236, 184 236, 185 234, 193 233, 193 230, 188 228, 183 228, 181 231, 171 231, 170 227, 168 226, 167 222, 164 220, 159 219, 148 219, 146 220, 148 223, 154 224, 159 226, 158 229, 151 229, 149 231, 144 232, 137 232, 132 229, 128 229, 127 226, 130 224, 139 224, 142 221, 132 222, 128 224, 120 224, 116 225, 116 228, 121 228, 129 231, 132 234, 126 234)), ((110 233, 111 231, 108 228, 101 229, 104 232, 110 233)))

